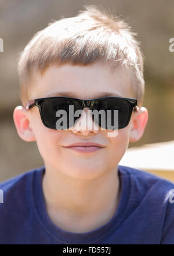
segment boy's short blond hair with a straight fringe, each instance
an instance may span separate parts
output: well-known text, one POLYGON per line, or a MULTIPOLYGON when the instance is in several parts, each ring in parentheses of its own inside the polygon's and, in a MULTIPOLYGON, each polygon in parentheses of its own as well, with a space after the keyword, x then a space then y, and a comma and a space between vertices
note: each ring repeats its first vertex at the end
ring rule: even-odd
POLYGON ((111 67, 127 67, 131 71, 132 87, 141 105, 144 95, 143 55, 136 33, 124 20, 110 10, 95 5, 84 6, 75 17, 48 24, 34 34, 20 52, 18 71, 20 96, 25 105, 30 99, 28 88, 34 72, 43 74, 50 65, 91 65, 108 63, 111 67))

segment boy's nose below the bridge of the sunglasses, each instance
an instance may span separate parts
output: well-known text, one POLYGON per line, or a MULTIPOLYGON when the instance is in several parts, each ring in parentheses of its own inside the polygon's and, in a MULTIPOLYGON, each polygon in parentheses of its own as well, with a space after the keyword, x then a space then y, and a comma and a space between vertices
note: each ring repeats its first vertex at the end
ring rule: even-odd
POLYGON ((99 132, 99 126, 93 121, 90 109, 84 108, 81 117, 70 130, 72 130, 74 134, 79 133, 88 136, 90 133, 97 134, 99 132))

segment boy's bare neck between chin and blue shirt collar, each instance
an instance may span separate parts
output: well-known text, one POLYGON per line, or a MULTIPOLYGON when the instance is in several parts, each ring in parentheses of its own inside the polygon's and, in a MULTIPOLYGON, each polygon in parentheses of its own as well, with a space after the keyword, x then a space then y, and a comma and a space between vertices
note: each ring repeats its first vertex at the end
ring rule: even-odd
POLYGON ((46 165, 45 170, 42 187, 46 209, 57 226, 86 232, 112 218, 120 194, 118 167, 92 180, 74 179, 46 165))

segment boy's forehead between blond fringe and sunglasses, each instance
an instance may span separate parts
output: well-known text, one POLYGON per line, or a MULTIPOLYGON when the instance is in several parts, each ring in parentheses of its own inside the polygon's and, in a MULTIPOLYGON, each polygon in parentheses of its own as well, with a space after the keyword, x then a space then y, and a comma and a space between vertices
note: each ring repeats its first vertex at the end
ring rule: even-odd
POLYGON ((101 63, 50 66, 44 74, 34 74, 29 95, 31 99, 54 96, 81 99, 114 96, 133 98, 129 71, 118 67, 111 69, 109 65, 101 63))

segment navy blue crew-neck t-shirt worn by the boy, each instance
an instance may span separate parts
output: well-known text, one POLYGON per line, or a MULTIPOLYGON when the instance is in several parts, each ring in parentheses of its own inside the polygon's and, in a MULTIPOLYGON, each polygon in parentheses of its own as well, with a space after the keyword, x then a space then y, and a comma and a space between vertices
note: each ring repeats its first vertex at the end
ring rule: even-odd
POLYGON ((73 233, 49 218, 44 172, 41 166, 0 183, 0 244, 174 244, 174 183, 118 165, 121 194, 115 214, 97 229, 73 233))

